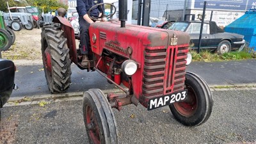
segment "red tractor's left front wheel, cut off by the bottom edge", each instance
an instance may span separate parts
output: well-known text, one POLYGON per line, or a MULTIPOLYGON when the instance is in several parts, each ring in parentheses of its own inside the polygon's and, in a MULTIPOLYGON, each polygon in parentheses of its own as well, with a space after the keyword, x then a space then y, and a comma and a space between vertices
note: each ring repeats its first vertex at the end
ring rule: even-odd
POLYGON ((90 89, 84 93, 83 116, 90 143, 118 143, 115 116, 101 90, 90 89))

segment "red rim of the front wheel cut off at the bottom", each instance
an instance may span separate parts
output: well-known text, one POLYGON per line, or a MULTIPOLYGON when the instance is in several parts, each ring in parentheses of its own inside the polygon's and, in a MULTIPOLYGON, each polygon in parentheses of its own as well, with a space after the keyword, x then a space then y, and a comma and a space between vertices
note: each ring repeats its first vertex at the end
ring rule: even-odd
POLYGON ((90 106, 86 106, 86 128, 89 131, 93 143, 100 144, 99 124, 97 123, 97 118, 90 106))

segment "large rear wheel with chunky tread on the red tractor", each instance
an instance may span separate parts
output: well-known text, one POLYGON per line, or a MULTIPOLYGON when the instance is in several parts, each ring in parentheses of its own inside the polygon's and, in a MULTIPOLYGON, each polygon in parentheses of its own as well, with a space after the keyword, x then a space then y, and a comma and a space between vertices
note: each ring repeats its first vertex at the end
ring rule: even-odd
POLYGON ((71 80, 71 60, 60 26, 46 26, 42 29, 42 59, 48 88, 51 93, 66 92, 71 80))

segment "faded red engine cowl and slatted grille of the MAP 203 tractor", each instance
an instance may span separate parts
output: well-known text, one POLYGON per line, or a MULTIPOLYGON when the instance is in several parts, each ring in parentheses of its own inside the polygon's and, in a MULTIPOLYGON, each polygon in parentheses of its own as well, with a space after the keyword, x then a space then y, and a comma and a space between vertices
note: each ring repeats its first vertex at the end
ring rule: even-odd
POLYGON ((132 85, 143 106, 148 99, 184 90, 187 33, 111 22, 93 23, 89 31, 93 53, 102 56, 99 70, 118 84, 132 85))

